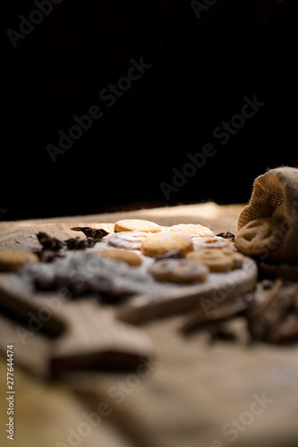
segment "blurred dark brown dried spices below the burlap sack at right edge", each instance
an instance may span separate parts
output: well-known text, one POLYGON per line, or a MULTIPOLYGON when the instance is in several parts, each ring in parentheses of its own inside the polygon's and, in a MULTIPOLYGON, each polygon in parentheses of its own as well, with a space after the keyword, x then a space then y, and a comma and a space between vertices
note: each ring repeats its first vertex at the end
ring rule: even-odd
POLYGON ((207 330, 211 341, 234 341, 225 325, 240 317, 246 341, 268 343, 292 343, 298 341, 298 284, 264 280, 256 290, 237 299, 222 303, 206 315, 196 308, 183 322, 179 331, 183 334, 193 330, 207 330), (246 324, 245 324, 246 322, 246 324))

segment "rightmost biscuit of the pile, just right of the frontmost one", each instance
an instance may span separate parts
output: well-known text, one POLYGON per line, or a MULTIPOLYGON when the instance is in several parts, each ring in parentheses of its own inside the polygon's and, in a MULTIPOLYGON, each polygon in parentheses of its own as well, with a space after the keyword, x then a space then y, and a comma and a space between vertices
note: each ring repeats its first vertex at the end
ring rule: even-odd
POLYGON ((201 249, 186 255, 186 259, 199 261, 209 266, 211 272, 228 272, 235 266, 233 252, 222 249, 201 249))

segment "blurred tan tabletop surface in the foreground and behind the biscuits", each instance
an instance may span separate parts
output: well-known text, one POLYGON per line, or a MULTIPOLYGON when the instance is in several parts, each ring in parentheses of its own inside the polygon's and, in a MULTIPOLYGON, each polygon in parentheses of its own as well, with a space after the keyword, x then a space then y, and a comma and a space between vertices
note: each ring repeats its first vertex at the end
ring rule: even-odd
MULTIPOLYGON (((113 223, 118 218, 139 217, 164 225, 202 223, 215 232, 235 232, 241 209, 210 203, 53 221, 113 223)), ((7 234, 12 225, 15 229, 49 221, 1 223, 0 228, 7 234)), ((23 359, 23 367, 15 367, 18 408, 14 445, 226 447, 233 443, 236 447, 294 447, 298 438, 297 345, 210 344, 207 333, 187 337, 179 333, 184 318, 167 316, 140 325, 156 356, 149 363, 140 358, 134 372, 65 372, 57 382, 48 383, 34 374, 43 368, 45 335, 27 333, 21 344, 16 324, 1 316, 2 344, 18 344, 16 355, 23 359), (37 350, 40 358, 26 369, 25 358, 31 350, 37 350), (256 400, 263 403, 253 404, 256 400), (258 414, 252 414, 252 408, 258 409, 258 414), (110 411, 98 422, 103 409, 110 411), (93 426, 86 413, 93 414, 93 426), (240 428, 233 431, 235 419, 240 428)), ((235 321, 235 325, 241 329, 243 322, 235 321)), ((2 354, 1 444, 11 445, 4 433, 4 350, 2 354)))

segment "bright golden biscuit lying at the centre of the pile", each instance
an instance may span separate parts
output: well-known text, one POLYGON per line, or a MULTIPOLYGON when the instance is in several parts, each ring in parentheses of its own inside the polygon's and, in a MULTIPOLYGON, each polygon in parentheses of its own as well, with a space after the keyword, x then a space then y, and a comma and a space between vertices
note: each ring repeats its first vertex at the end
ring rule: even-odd
POLYGON ((192 239, 183 232, 154 234, 143 240, 140 246, 142 254, 149 257, 155 257, 170 250, 180 250, 187 253, 192 249, 192 239))

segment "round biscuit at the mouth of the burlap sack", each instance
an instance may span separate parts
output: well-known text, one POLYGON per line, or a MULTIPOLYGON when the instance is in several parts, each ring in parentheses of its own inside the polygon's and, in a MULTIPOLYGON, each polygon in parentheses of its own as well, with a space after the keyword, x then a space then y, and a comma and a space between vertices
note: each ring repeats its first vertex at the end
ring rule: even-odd
POLYGON ((276 248, 277 240, 281 242, 278 224, 269 218, 264 218, 246 223, 236 233, 234 243, 244 255, 260 256, 276 248))

